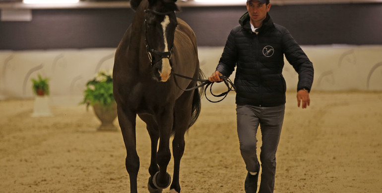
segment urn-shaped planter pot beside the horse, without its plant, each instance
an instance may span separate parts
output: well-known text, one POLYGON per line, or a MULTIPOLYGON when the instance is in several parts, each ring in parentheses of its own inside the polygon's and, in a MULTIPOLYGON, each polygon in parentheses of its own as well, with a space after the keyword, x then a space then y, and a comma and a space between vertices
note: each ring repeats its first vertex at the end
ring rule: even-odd
POLYGON ((98 131, 117 131, 117 127, 113 124, 117 118, 117 103, 113 103, 111 106, 102 106, 97 103, 93 105, 93 109, 97 118, 101 121, 98 131))

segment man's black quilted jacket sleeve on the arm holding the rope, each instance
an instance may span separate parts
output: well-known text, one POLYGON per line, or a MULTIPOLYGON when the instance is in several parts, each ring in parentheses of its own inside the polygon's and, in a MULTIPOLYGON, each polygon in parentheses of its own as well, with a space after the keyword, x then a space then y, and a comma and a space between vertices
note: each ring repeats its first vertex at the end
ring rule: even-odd
POLYGON ((238 27, 239 26, 232 29, 228 35, 222 56, 220 57, 219 64, 216 67, 216 70, 226 77, 229 77, 235 70, 238 58, 237 46, 235 43, 235 33, 238 27))

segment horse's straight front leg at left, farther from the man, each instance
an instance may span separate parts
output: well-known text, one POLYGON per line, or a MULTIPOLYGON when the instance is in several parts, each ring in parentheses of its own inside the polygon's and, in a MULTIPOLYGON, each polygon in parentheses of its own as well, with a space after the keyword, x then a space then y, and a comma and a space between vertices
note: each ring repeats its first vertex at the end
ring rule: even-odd
POLYGON ((139 157, 136 152, 135 118, 136 113, 125 109, 123 106, 117 107, 118 121, 121 127, 122 136, 126 147, 126 170, 130 178, 130 193, 137 193, 137 181, 139 170, 139 157))

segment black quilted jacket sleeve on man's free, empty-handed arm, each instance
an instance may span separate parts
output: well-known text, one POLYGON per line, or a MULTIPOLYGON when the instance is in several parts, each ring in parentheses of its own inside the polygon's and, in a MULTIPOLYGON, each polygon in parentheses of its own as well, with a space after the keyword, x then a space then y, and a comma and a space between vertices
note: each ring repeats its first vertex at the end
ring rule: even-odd
POLYGON ((293 39, 292 35, 287 29, 283 29, 283 52, 288 62, 293 66, 296 72, 299 74, 299 82, 297 90, 312 88, 314 69, 313 64, 309 60, 308 56, 293 39))

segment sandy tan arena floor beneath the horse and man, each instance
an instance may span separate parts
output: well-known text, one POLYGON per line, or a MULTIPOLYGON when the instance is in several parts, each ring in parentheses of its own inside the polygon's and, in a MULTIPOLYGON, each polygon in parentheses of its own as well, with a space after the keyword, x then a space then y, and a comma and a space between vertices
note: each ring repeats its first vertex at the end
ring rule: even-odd
MULTIPOLYGON (((287 94, 275 193, 382 193, 382 93, 312 93, 311 99, 303 110, 295 93, 287 94)), ((32 118, 32 109, 33 100, 0 101, 1 193, 129 191, 120 132, 97 132, 98 120, 83 105, 54 106, 54 117, 43 118, 32 118)), ((141 121, 137 146, 144 193, 150 149, 141 121)), ((204 98, 186 136, 182 192, 244 193, 245 176, 234 96, 220 103, 204 98)))

